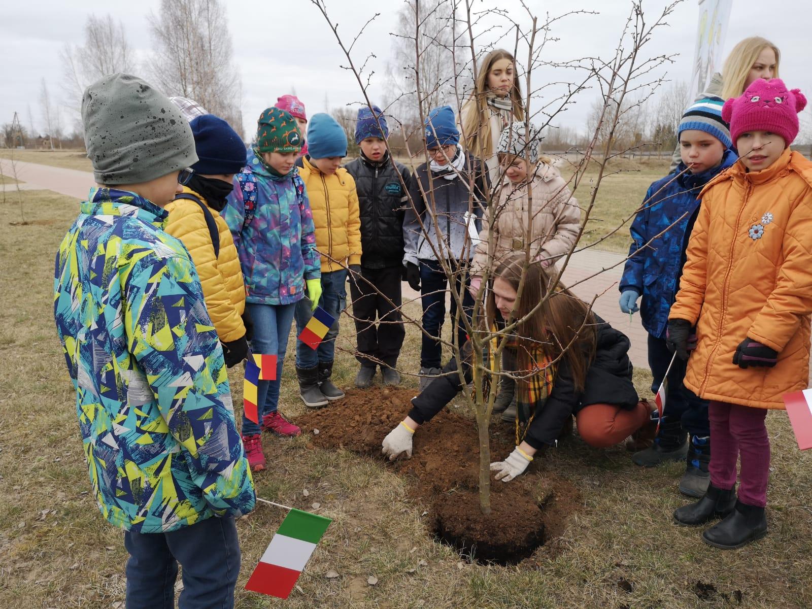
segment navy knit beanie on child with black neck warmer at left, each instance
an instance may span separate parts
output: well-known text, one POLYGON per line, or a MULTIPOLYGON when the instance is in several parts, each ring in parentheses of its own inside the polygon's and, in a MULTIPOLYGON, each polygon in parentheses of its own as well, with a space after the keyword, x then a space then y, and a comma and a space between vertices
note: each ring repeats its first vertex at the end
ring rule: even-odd
POLYGON ((245 166, 242 138, 231 126, 214 114, 203 114, 189 123, 200 160, 192 169, 202 175, 238 174, 245 166))

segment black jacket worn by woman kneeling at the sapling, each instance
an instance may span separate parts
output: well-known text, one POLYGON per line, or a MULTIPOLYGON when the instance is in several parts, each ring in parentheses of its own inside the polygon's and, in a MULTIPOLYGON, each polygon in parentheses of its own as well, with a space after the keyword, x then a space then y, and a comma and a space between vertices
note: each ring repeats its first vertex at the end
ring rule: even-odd
MULTIPOLYGON (((637 391, 632 383, 632 362, 628 359, 631 343, 623 332, 615 330, 600 317, 597 319, 597 349, 586 373, 584 391, 579 393, 573 387, 572 375, 566 363, 559 365, 553 390, 545 401, 536 405, 536 416, 525 435, 525 442, 533 448, 555 443, 567 417, 585 406, 612 404, 631 410, 637 405, 637 391)), ((469 379, 469 366, 466 365, 465 368, 465 378, 469 379)), ((443 372, 456 369, 456 360, 452 359, 443 368, 443 372)), ((435 379, 420 395, 412 399, 412 410, 408 416, 421 424, 429 421, 443 410, 461 388, 459 374, 435 379)))

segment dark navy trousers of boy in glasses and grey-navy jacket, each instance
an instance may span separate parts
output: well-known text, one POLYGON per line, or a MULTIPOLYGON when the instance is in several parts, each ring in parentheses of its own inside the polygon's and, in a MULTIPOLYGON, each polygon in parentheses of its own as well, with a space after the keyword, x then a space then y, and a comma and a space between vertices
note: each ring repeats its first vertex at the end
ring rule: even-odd
MULTIPOLYGON (((451 266, 453 269, 454 266, 451 266)), ((468 291, 468 286, 471 281, 469 275, 456 274, 454 282, 454 290, 459 293, 462 291, 462 309, 465 317, 471 321, 471 313, 473 312, 473 296, 468 291), (463 278, 465 279, 463 285, 463 278)), ((420 294, 421 304, 423 305, 423 330, 428 332, 431 336, 439 337, 443 330, 443 322, 446 317, 446 289, 448 285, 448 278, 443 272, 443 267, 440 266, 438 261, 434 260, 421 260, 420 261, 420 294)), ((456 326, 456 300, 451 297, 451 332, 456 331, 457 340, 460 347, 465 344, 466 332, 464 324, 456 326)), ((420 350, 420 366, 421 368, 442 368, 440 363, 443 359, 443 345, 438 339, 431 338, 422 334, 422 344, 420 350)))

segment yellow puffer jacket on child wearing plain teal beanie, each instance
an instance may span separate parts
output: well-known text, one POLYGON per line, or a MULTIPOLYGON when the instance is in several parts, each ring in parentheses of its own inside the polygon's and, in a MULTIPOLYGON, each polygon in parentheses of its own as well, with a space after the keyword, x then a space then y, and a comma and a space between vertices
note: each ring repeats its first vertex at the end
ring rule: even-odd
POLYGON ((322 254, 322 273, 361 264, 361 215, 352 175, 339 167, 324 175, 307 157, 299 159, 299 175, 313 210, 316 248, 322 254))

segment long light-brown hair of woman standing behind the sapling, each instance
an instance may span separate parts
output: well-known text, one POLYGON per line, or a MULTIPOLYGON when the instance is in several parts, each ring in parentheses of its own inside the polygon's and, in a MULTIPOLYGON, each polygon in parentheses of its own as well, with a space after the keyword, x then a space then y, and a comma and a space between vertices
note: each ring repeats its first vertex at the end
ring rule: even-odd
POLYGON ((460 123, 464 136, 464 145, 469 153, 487 160, 494 156, 492 134, 490 132, 490 110, 488 110, 488 75, 499 59, 509 59, 513 64, 513 87, 510 98, 513 106, 513 119, 525 120, 525 106, 522 102, 519 78, 516 76, 516 59, 508 51, 496 49, 482 59, 470 97, 463 106, 460 123))

